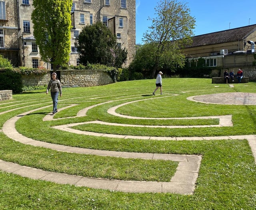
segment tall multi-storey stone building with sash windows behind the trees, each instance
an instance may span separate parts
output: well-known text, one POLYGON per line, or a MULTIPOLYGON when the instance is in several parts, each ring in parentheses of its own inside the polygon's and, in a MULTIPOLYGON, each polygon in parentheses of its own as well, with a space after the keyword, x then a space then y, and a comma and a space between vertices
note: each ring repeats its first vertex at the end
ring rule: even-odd
MULTIPOLYGON (((32 0, 0 0, 0 54, 15 66, 50 69, 33 36, 32 0)), ((126 66, 135 54, 135 0, 74 0, 71 10, 70 65, 79 65, 74 46, 85 25, 101 21, 116 35, 117 43, 128 51, 126 66)))

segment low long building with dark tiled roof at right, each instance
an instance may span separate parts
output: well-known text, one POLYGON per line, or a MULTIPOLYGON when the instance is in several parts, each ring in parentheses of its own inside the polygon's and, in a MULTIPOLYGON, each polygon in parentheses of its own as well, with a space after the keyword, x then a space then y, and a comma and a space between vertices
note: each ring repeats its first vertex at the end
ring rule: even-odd
POLYGON ((193 42, 183 53, 190 64, 199 58, 210 67, 256 66, 254 59, 256 24, 193 37, 193 42))

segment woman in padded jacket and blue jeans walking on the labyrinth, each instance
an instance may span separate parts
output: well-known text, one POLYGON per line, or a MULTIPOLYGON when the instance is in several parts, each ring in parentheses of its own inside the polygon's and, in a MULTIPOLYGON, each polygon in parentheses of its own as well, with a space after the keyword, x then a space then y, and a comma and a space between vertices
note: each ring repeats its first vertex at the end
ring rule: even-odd
POLYGON ((57 104, 58 104, 59 92, 60 92, 60 96, 62 96, 60 80, 57 79, 57 74, 55 72, 52 73, 52 80, 50 80, 48 83, 46 94, 48 94, 49 89, 51 91, 52 104, 53 104, 52 114, 55 114, 56 112, 58 112, 57 104))

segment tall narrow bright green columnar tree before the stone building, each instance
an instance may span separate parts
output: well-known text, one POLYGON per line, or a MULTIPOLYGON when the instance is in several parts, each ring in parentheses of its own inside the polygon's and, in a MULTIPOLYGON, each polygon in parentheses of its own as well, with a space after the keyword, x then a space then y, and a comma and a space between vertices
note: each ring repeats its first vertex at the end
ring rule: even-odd
POLYGON ((33 6, 34 37, 40 55, 56 72, 58 65, 69 60, 72 0, 33 0, 33 6))

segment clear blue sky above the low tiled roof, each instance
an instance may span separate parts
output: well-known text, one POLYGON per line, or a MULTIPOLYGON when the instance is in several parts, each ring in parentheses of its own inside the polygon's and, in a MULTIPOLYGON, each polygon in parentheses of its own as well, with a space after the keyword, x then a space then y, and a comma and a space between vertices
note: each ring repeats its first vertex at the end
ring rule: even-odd
MULTIPOLYGON (((143 34, 151 26, 159 0, 136 0, 136 44, 143 44, 143 34)), ((249 24, 256 24, 255 0, 180 0, 187 3, 196 19, 194 35, 208 34, 249 24)))

